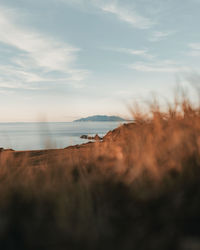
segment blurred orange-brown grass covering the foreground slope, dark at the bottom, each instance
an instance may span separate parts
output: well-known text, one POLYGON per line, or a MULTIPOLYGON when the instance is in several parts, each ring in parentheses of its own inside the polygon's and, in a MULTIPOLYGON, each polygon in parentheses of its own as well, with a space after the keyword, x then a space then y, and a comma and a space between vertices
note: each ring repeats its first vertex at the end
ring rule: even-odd
POLYGON ((200 107, 136 111, 103 142, 0 153, 0 249, 200 249, 200 107))

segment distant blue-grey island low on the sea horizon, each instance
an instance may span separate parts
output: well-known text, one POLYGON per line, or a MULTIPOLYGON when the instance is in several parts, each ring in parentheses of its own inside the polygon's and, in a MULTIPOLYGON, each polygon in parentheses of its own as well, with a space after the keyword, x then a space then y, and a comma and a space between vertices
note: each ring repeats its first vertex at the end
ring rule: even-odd
POLYGON ((94 115, 75 120, 74 122, 123 122, 125 119, 119 116, 94 115))

